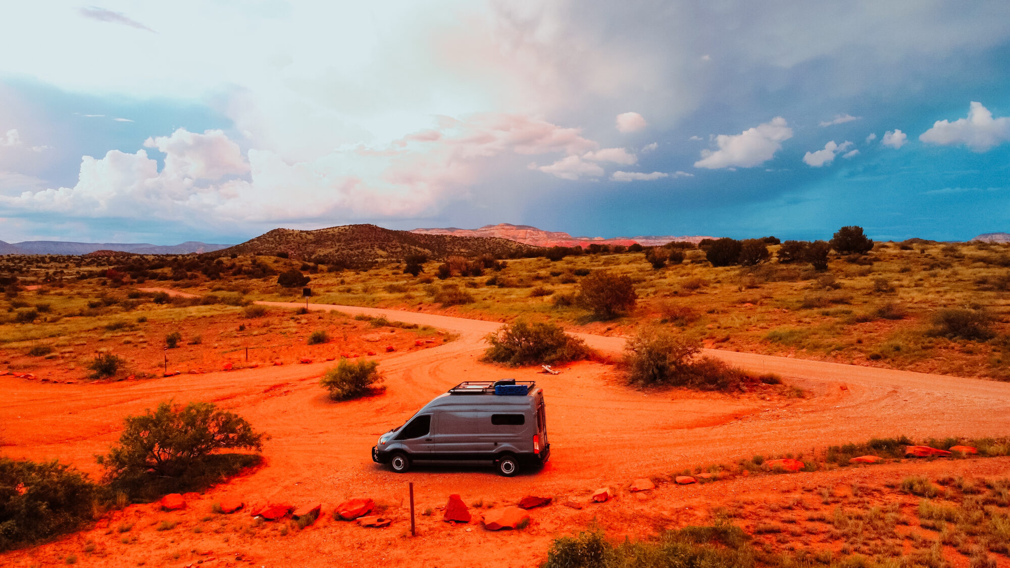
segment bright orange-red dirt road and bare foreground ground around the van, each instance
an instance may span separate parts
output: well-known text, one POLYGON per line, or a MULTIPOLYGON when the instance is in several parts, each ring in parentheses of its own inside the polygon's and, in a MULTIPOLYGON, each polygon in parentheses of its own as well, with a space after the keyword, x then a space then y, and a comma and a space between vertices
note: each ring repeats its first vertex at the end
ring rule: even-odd
MULTIPOLYGON (((585 500, 602 486, 619 489, 638 477, 731 463, 755 453, 799 454, 896 434, 1005 435, 1010 384, 715 351, 707 354, 750 370, 779 373, 812 396, 639 391, 621 384, 610 366, 599 363, 574 364, 557 376, 482 364, 481 338, 497 327, 494 322, 328 307, 384 314, 461 337, 437 349, 390 354, 380 367, 387 377, 385 393, 339 403, 330 401, 316 384, 324 364, 102 384, 40 384, 0 377, 5 394, 0 438, 7 444, 4 453, 14 458, 60 458, 97 475, 93 456, 117 439, 122 417, 173 397, 216 402, 273 437, 266 444, 263 467, 208 490, 187 509, 159 512, 154 504, 131 505, 90 531, 0 555, 0 564, 48 564, 69 553, 83 566, 186 566, 197 560, 207 564, 211 557, 211 564, 246 564, 235 560, 240 553, 258 566, 534 566, 544 558, 551 539, 585 528, 594 516, 611 536, 642 538, 664 527, 707 522, 709 507, 731 503, 735 495, 761 503, 763 496, 807 482, 883 482, 916 472, 1005 476, 1010 469, 1010 460, 998 458, 736 478, 701 486, 661 484, 642 497, 644 501, 621 495, 582 510, 560 504, 534 509, 530 527, 518 533, 490 533, 479 525, 449 527, 440 522, 435 507, 450 493, 462 494, 467 503, 483 500, 498 506, 526 494, 585 500), (372 463, 370 449, 379 435, 402 423, 433 396, 463 380, 504 377, 536 380, 544 389, 551 459, 542 471, 503 478, 490 469, 419 467, 397 475, 372 463), (409 538, 406 519, 408 481, 415 484, 418 511, 434 509, 433 515, 418 517, 417 539, 409 538), (282 535, 284 524, 257 526, 247 514, 211 513, 212 503, 225 495, 296 505, 321 501, 324 515, 308 530, 282 535), (333 506, 352 496, 374 498, 383 514, 394 518, 393 525, 363 529, 332 520, 333 506), (201 520, 208 515, 210 519, 201 520), (135 526, 120 534, 123 519, 135 520, 135 526), (157 531, 165 519, 180 525, 157 531), (201 533, 193 532, 197 526, 201 533), (95 552, 84 553, 89 540, 95 552)), ((618 338, 586 339, 611 354, 622 346, 618 338)))

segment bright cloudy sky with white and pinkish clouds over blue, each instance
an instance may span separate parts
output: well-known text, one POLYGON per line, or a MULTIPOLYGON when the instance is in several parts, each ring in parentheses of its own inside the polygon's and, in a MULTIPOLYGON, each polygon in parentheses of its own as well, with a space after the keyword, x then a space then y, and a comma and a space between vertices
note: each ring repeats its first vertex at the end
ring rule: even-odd
POLYGON ((8 4, 8 243, 1010 231, 1005 0, 8 4))

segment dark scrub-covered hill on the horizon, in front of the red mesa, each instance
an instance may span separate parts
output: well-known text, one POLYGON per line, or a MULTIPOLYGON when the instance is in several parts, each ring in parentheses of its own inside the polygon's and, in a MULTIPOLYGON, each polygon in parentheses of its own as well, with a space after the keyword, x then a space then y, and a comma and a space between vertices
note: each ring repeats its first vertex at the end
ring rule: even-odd
POLYGON ((275 228, 241 245, 217 251, 214 255, 273 256, 286 253, 292 259, 357 267, 383 259, 400 261, 408 255, 424 255, 430 260, 452 255, 477 257, 484 254, 504 258, 522 256, 535 249, 506 239, 418 234, 374 224, 347 224, 315 230, 275 228))

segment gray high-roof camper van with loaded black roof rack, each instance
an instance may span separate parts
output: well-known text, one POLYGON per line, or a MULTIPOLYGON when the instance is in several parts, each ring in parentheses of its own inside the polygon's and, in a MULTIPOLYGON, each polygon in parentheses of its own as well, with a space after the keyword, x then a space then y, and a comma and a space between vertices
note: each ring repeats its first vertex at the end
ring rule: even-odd
POLYGON ((460 383, 372 448, 372 460, 397 473, 414 461, 490 462, 511 477, 549 456, 543 391, 512 379, 460 383))

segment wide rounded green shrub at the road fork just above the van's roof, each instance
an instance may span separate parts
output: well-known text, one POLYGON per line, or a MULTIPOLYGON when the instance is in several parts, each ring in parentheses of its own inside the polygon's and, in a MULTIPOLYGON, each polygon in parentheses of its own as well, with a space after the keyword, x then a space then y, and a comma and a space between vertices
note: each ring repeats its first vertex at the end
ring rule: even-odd
POLYGON ((560 325, 522 319, 503 325, 488 336, 487 342, 491 347, 484 352, 484 360, 507 365, 577 361, 591 354, 585 342, 569 336, 560 325))

